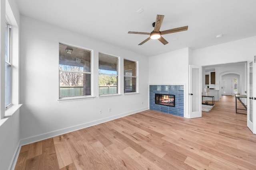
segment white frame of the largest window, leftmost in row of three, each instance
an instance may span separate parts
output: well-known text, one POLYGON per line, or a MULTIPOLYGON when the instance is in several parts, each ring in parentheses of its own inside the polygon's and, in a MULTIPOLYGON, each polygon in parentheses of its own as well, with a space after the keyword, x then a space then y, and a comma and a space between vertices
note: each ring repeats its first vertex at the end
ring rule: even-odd
MULTIPOLYGON (((86 50, 86 51, 90 51, 90 72, 86 72, 86 71, 73 71, 73 70, 60 70, 60 55, 58 55, 59 59, 58 59, 58 101, 59 102, 67 102, 67 101, 74 101, 74 100, 86 100, 86 99, 92 99, 93 97, 93 60, 92 60, 92 56, 93 56, 93 50, 92 49, 86 49, 84 47, 78 47, 78 46, 74 46, 74 45, 70 45, 67 43, 61 43, 59 42, 59 46, 61 45, 66 45, 68 47, 72 47, 72 48, 78 48, 78 49, 82 49, 82 50, 86 50), (80 95, 80 96, 64 96, 64 97, 60 97, 60 72, 73 72, 73 73, 82 73, 82 74, 90 74, 90 95, 80 95)), ((60 47, 58 49, 58 51, 60 52, 60 47)))

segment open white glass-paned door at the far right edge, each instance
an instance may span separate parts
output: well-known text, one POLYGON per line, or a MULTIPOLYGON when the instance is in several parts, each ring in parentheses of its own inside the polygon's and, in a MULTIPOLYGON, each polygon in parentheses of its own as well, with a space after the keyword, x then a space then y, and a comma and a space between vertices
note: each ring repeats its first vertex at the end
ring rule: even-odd
POLYGON ((254 56, 254 61, 248 63, 248 90, 247 90, 247 126, 256 134, 256 69, 255 62, 256 57, 254 56))

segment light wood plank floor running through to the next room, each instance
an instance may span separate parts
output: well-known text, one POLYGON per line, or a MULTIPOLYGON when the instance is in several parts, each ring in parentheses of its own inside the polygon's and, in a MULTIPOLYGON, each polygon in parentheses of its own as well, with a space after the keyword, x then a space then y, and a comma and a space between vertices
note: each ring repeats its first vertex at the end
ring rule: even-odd
POLYGON ((16 170, 255 170, 256 135, 223 96, 202 118, 147 110, 22 146, 16 170))

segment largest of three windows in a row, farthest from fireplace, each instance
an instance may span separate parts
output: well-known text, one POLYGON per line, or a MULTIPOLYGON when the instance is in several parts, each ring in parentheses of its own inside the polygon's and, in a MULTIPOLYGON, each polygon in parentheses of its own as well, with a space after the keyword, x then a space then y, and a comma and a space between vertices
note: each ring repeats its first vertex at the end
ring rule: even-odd
POLYGON ((91 51, 59 44, 59 98, 91 95, 91 51))

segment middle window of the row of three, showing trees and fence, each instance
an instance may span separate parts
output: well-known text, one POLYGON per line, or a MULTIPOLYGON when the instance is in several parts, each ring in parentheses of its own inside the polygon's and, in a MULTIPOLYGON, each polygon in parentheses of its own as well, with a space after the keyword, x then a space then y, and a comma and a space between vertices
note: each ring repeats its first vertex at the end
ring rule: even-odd
POLYGON ((118 57, 99 53, 99 95, 118 93, 118 57))

